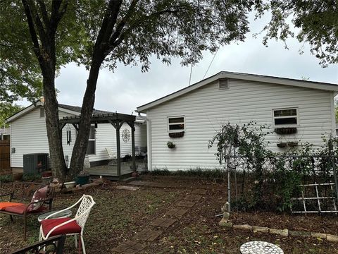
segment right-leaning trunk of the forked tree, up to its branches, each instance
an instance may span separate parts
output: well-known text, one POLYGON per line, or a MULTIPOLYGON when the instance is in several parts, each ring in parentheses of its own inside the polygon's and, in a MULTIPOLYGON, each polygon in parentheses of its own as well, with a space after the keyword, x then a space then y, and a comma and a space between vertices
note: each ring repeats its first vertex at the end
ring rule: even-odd
MULTIPOLYGON (((102 57, 100 58, 102 59, 102 57)), ((99 76, 100 66, 102 60, 93 61, 93 64, 89 71, 89 78, 87 80, 87 88, 84 93, 79 132, 75 140, 75 144, 72 152, 72 159, 70 160, 69 175, 75 176, 83 169, 84 157, 87 151, 88 138, 90 132, 90 120, 93 114, 93 107, 95 102, 95 90, 97 78, 99 76)))

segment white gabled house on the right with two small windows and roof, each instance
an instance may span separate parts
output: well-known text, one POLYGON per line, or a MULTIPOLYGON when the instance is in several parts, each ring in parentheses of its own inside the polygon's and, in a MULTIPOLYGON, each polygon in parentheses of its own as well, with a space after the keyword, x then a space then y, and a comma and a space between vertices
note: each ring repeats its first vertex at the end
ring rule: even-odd
POLYGON ((218 167, 208 140, 227 122, 252 120, 296 130, 266 137, 270 149, 279 152, 290 147, 280 148, 277 143, 321 145, 322 135, 335 135, 337 91, 337 84, 220 72, 137 108, 147 118, 149 170, 218 167), (175 143, 174 149, 168 148, 169 140, 175 143))

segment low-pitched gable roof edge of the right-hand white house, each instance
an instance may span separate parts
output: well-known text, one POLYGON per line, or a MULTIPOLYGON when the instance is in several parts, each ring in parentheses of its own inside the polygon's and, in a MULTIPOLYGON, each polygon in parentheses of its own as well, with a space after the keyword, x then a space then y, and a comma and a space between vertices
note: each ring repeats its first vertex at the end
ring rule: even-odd
POLYGON ((261 83, 272 83, 276 85, 291 85, 291 86, 296 86, 296 87, 306 87, 306 88, 312 88, 312 89, 318 89, 318 90, 327 90, 327 91, 336 92, 335 95, 337 95, 337 92, 338 92, 338 85, 334 83, 322 83, 322 82, 307 81, 307 80, 297 80, 297 79, 292 79, 292 78, 279 78, 279 77, 273 77, 273 76, 268 76, 268 75, 256 75, 256 74, 249 74, 249 73, 234 73, 234 72, 229 72, 229 71, 221 71, 220 73, 212 75, 211 77, 201 80, 198 83, 194 83, 193 85, 184 87, 183 89, 178 90, 177 92, 173 92, 170 95, 166 95, 165 97, 156 99, 153 102, 149 102, 147 104, 139 106, 137 107, 137 111, 146 113, 147 109, 156 107, 158 104, 162 104, 163 102, 168 102, 170 99, 175 99, 176 97, 185 95, 188 92, 192 92, 193 90, 196 90, 199 87, 208 85, 211 82, 214 82, 215 80, 219 80, 223 78, 250 80, 250 81, 257 81, 261 83))

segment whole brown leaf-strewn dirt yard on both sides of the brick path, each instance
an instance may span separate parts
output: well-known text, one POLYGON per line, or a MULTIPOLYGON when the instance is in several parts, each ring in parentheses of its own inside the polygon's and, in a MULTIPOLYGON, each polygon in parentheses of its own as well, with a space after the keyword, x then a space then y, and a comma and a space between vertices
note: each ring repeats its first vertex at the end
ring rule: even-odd
MULTIPOLYGON (((220 207, 226 202, 226 188, 223 183, 198 179, 177 179, 175 177, 146 176, 139 183, 137 191, 116 188, 120 183, 107 182, 104 186, 92 188, 85 194, 92 195, 94 206, 84 229, 84 243, 87 253, 114 253, 121 243, 134 241, 142 230, 161 231, 154 241, 142 241, 138 253, 239 253, 239 247, 247 241, 268 241, 280 246, 284 253, 338 253, 338 244, 320 238, 282 237, 277 235, 251 233, 239 229, 219 226, 220 207), (147 184, 151 182, 152 184, 147 184), (194 195, 194 190, 206 190, 205 194, 194 195), (192 207, 167 228, 151 225, 158 218, 168 218, 165 213, 187 205, 188 199, 200 196, 192 207), (115 249, 116 250, 116 249, 115 249)), ((4 186, 8 188, 8 184, 4 186)), ((3 190, 4 191, 4 190, 3 190)), ((73 204, 83 193, 58 195, 54 209, 73 204)), ((189 201, 189 202, 188 202, 189 201)), ((294 229, 338 234, 337 216, 292 216, 270 212, 232 214, 234 224, 269 226, 275 229, 294 229)), ((23 242, 23 220, 0 214, 0 253, 11 251, 38 241, 39 222, 32 217, 28 222, 28 241, 23 242)), ((73 238, 68 237, 64 253, 78 253, 73 238)))

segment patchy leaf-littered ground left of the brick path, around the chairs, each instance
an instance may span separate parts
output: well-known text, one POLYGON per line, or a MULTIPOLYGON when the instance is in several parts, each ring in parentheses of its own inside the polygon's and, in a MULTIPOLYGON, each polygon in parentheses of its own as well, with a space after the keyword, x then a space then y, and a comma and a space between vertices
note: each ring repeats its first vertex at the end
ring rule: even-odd
MULTIPOLYGON (((92 189, 86 194, 92 195, 96 205, 89 214, 84 229, 84 243, 87 253, 111 253, 111 249, 129 239, 137 231, 164 213, 176 198, 181 195, 177 190, 140 189, 124 191, 113 188, 113 183, 106 189, 92 189)), ((75 203, 82 193, 61 195, 55 199, 54 209, 62 209, 75 203)), ((76 209, 73 210, 75 214, 76 209)), ((39 222, 37 217, 30 217, 27 222, 27 243, 23 241, 23 219, 14 217, 11 222, 8 215, 0 214, 0 253, 27 246, 39 241, 39 222)), ((77 253, 72 237, 65 243, 65 253, 77 253)))

